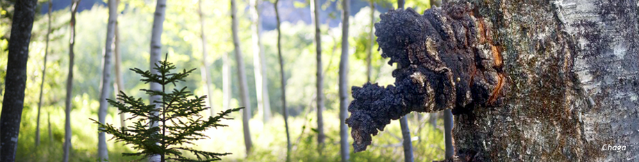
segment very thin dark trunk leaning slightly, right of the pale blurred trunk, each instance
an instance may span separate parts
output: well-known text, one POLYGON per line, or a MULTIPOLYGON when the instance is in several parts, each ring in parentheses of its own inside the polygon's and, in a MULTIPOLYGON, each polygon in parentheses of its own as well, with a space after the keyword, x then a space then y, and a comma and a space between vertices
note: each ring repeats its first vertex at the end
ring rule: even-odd
POLYGON ((288 133, 288 109, 286 109, 286 78, 284 76, 284 61, 282 59, 282 31, 280 26, 279 12, 277 10, 277 4, 279 0, 275 1, 275 17, 277 24, 277 55, 279 56, 280 63, 280 80, 282 83, 282 114, 284 114, 284 129, 286 129, 286 161, 290 161, 290 134, 288 133))

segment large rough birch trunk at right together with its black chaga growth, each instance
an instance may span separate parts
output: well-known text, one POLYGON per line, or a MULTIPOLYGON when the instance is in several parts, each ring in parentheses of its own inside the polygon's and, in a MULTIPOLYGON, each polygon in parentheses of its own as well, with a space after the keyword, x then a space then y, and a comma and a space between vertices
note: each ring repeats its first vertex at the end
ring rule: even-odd
POLYGON ((365 149, 370 134, 401 114, 453 108, 452 161, 637 161, 638 10, 637 1, 486 0, 451 2, 424 15, 390 11, 376 24, 376 35, 385 57, 399 64, 393 72, 396 82, 385 88, 353 88, 348 123, 356 150, 365 149), (438 19, 444 25, 433 21, 438 19), (438 30, 422 27, 429 25, 438 30), (466 30, 457 30, 460 26, 466 30), (383 32, 391 39, 384 39, 383 32), (437 39, 447 35, 456 41, 437 39), (435 60, 429 38, 450 70, 415 65, 423 58, 435 60), (419 46, 424 39, 426 46, 419 46), (455 69, 445 59, 451 48, 442 46, 459 49, 456 55, 470 48, 474 57, 458 56, 464 60, 455 69), (419 53, 413 56, 415 51, 419 53), (481 74, 468 68, 465 61, 473 59, 481 74), (419 78, 430 85, 415 84, 422 83, 419 78), (478 82, 483 87, 475 86, 478 82), (465 84, 470 97, 463 94, 469 92, 465 84), (495 97, 496 87, 502 89, 495 97), (624 145, 626 150, 603 151, 604 145, 624 145))

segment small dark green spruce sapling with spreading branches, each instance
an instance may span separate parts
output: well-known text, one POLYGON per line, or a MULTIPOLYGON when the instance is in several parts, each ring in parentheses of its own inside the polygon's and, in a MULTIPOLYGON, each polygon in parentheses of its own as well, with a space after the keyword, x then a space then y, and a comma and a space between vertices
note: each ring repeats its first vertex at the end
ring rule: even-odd
MULTIPOLYGON (((217 161, 221 160, 220 156, 231 153, 215 153, 205 152, 185 147, 184 144, 193 145, 192 141, 204 139, 208 136, 202 132, 211 127, 226 127, 228 125, 220 124, 222 119, 227 118, 233 111, 240 111, 242 108, 227 109, 217 116, 210 116, 208 120, 203 120, 199 115, 201 111, 209 109, 204 107, 204 99, 206 96, 194 96, 186 87, 182 89, 173 89, 170 93, 165 88, 170 84, 176 86, 176 82, 184 81, 184 78, 195 69, 189 71, 183 70, 181 73, 171 73, 176 67, 165 61, 155 64, 159 74, 151 73, 151 71, 142 71, 138 68, 131 69, 142 75, 141 81, 145 84, 155 82, 162 86, 162 91, 151 89, 141 89, 147 95, 161 96, 161 100, 154 100, 151 104, 145 104, 142 98, 133 98, 127 96, 126 93, 118 95, 118 99, 122 102, 107 99, 110 105, 117 107, 120 113, 131 114, 128 120, 135 120, 132 126, 117 127, 109 124, 99 123, 97 120, 91 119, 99 125, 100 132, 113 134, 113 138, 118 142, 124 142, 133 145, 135 153, 122 153, 124 156, 147 156, 161 155, 162 160, 172 161, 217 161), (161 107, 156 107, 162 105, 161 107), (149 127, 158 124, 157 127, 149 127), (161 123, 161 124, 160 124, 161 123), (189 159, 183 156, 182 152, 190 152, 197 157, 197 160, 189 159)), ((142 160, 140 159, 140 160, 142 160)))

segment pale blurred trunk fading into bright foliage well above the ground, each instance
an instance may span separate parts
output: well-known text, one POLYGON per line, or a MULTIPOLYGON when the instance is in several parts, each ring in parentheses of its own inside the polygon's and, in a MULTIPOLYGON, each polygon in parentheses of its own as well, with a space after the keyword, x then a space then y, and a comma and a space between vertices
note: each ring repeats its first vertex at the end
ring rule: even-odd
POLYGON ((261 17, 260 17, 260 0, 251 0, 250 1, 249 10, 251 11, 251 19, 253 20, 253 24, 251 25, 251 39, 253 40, 253 64, 254 64, 254 72, 255 72, 255 90, 258 99, 258 114, 262 115, 263 122, 267 123, 271 118, 271 108, 269 106, 268 100, 264 98, 264 96, 268 95, 267 87, 265 84, 266 78, 263 74, 265 72, 264 69, 264 52, 262 50, 262 40, 261 40, 261 31, 262 25, 261 17))

